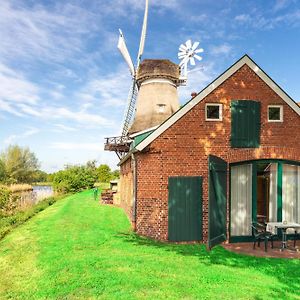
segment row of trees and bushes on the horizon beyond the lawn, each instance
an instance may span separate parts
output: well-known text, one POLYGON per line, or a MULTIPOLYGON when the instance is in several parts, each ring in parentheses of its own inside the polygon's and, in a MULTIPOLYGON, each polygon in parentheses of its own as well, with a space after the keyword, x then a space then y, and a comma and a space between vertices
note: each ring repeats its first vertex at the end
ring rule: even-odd
POLYGON ((67 165, 53 174, 41 171, 40 163, 29 148, 9 146, 0 154, 0 183, 52 182, 58 192, 69 193, 92 188, 96 182, 109 182, 119 178, 119 171, 112 171, 106 164, 97 167, 96 161, 85 165, 67 165))

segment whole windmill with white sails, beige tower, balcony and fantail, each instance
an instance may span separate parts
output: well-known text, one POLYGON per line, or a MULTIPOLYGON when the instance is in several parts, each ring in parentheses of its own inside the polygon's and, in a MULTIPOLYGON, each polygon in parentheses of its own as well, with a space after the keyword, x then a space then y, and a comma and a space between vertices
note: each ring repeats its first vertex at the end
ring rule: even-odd
POLYGON ((120 159, 129 151, 132 142, 131 134, 160 125, 179 109, 177 87, 186 85, 187 65, 189 62, 195 65, 195 59, 202 59, 197 53, 203 52, 203 49, 196 49, 199 43, 192 44, 188 40, 185 45, 179 47, 180 65, 167 59, 142 61, 147 32, 148 4, 149 1, 146 0, 136 66, 130 57, 124 35, 119 30, 118 49, 128 65, 132 82, 121 136, 106 138, 104 149, 115 151, 120 159))

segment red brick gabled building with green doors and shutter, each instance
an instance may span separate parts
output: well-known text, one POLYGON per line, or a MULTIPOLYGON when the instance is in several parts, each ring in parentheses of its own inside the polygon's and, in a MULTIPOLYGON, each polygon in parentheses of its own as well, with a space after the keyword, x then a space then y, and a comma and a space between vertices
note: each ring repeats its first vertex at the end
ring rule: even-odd
POLYGON ((300 223, 300 107, 245 55, 121 160, 138 234, 250 241, 251 222, 300 223))

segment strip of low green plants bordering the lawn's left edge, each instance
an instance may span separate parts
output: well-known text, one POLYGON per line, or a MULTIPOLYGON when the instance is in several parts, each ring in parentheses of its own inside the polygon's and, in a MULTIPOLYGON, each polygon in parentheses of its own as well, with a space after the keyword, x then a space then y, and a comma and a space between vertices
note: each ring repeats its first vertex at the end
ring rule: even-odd
POLYGON ((37 213, 43 211, 44 209, 53 205, 55 202, 64 197, 66 197, 66 195, 49 197, 24 210, 17 210, 10 215, 0 214, 0 240, 14 228, 22 225, 37 213))

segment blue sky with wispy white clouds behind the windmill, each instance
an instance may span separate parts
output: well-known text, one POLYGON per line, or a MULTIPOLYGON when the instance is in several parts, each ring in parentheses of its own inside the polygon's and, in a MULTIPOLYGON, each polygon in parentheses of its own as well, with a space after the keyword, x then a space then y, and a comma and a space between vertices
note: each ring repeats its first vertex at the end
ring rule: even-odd
MULTIPOLYGON (((143 0, 1 0, 0 152, 26 146, 55 172, 88 160, 117 168, 104 138, 118 136, 130 73, 117 49, 121 28, 132 59, 143 0)), ((149 0, 143 58, 179 63, 188 39, 204 48, 180 102, 245 53, 300 102, 300 0, 149 0)))

